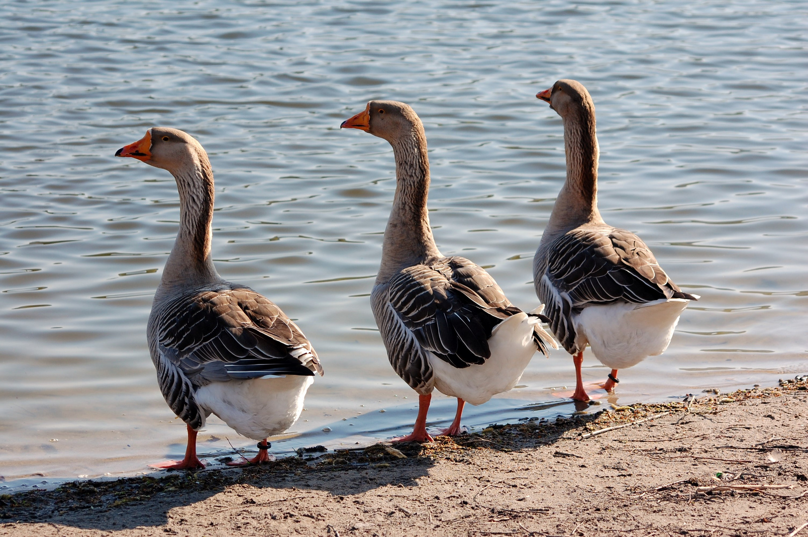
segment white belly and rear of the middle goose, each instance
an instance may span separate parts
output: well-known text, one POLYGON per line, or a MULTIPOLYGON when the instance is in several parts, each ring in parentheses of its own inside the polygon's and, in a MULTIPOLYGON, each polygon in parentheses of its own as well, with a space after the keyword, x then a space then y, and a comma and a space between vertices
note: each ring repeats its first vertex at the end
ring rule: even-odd
POLYGON ((518 313, 499 323, 488 340, 491 357, 482 365, 458 369, 429 353, 435 388, 472 405, 482 405, 494 394, 507 392, 522 378, 537 350, 532 337, 537 322, 527 313, 518 313))

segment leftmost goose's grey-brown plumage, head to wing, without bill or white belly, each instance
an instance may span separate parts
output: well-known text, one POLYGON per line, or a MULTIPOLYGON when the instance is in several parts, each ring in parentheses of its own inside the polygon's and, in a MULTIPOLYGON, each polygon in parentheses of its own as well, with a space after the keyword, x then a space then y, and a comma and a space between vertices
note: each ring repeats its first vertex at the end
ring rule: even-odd
POLYGON ((151 128, 147 136, 144 162, 174 175, 180 200, 179 233, 149 316, 149 352, 166 403, 196 430, 209 413, 194 398, 200 387, 322 375, 322 367, 301 329, 276 304, 225 281, 213 266, 213 171, 199 142, 173 128, 151 128))

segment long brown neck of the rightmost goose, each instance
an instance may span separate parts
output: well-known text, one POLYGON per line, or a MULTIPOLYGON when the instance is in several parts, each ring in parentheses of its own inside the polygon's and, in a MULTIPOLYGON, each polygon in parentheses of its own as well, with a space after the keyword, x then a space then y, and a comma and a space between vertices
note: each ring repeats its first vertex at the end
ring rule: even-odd
POLYGON ((566 182, 547 224, 550 233, 566 232, 587 223, 603 223, 598 211, 599 149, 595 111, 580 107, 563 120, 566 182))

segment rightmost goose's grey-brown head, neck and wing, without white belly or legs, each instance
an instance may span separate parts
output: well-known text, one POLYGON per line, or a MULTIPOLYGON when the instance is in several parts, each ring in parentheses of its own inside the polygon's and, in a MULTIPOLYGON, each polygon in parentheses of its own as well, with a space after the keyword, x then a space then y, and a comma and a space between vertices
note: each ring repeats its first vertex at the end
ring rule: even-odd
POLYGON ((600 216, 595 105, 587 89, 559 80, 539 98, 562 116, 567 172, 533 258, 533 283, 553 334, 574 355, 583 348, 572 317, 587 305, 697 297, 668 278, 640 237, 600 216))

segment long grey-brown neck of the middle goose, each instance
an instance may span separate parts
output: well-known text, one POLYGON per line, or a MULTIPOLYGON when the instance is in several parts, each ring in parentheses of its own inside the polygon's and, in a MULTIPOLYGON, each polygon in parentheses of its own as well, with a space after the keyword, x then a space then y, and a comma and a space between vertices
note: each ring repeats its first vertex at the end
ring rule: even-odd
POLYGON ((390 142, 396 159, 396 193, 381 248, 376 283, 385 283, 406 266, 440 256, 427 212, 429 157, 423 127, 390 142))

